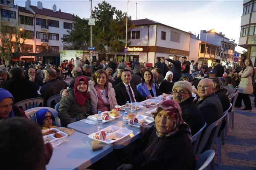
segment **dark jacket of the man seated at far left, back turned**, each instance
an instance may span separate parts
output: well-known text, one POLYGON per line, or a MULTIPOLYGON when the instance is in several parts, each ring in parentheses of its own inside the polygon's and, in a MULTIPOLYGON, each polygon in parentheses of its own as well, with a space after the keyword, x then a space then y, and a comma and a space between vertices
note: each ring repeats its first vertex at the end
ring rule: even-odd
POLYGON ((37 85, 21 77, 12 77, 8 81, 3 81, 1 88, 8 90, 12 94, 15 103, 38 97, 37 85))

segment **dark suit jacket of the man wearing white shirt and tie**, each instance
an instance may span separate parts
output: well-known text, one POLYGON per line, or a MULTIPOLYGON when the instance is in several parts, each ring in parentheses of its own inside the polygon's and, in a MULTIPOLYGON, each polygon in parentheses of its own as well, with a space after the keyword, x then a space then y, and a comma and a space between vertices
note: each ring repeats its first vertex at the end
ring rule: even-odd
MULTIPOLYGON (((135 99, 137 102, 141 102, 146 99, 145 96, 141 95, 137 89, 136 86, 133 83, 130 83, 132 90, 135 94, 135 99)), ((125 105, 126 101, 129 101, 131 103, 128 91, 126 91, 125 85, 123 82, 120 82, 119 84, 115 85, 114 87, 115 93, 116 93, 116 102, 118 105, 122 106, 125 105)))

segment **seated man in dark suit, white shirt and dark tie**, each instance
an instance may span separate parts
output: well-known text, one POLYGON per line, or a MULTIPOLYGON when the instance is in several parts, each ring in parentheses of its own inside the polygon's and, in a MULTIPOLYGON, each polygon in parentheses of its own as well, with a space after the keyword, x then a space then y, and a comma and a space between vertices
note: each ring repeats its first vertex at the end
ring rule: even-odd
POLYGON ((125 105, 126 101, 141 102, 146 99, 145 96, 141 95, 136 86, 131 83, 131 71, 124 69, 121 72, 122 82, 114 87, 116 93, 116 102, 118 105, 125 105))

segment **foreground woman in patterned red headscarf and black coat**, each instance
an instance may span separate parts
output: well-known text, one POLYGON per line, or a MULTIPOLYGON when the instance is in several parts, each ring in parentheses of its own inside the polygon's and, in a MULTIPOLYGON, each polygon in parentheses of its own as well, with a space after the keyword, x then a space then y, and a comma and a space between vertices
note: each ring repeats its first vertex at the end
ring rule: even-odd
POLYGON ((179 104, 174 100, 161 102, 154 113, 154 126, 145 150, 117 170, 194 170, 191 131, 179 104))

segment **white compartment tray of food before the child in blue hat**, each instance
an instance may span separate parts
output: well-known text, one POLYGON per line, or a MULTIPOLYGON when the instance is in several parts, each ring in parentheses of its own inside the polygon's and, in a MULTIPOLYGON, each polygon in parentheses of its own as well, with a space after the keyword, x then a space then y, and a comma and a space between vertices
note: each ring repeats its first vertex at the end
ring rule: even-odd
POLYGON ((56 128, 50 128, 47 130, 42 130, 42 135, 44 139, 44 143, 53 142, 58 139, 63 139, 67 137, 67 134, 58 130, 56 128))

